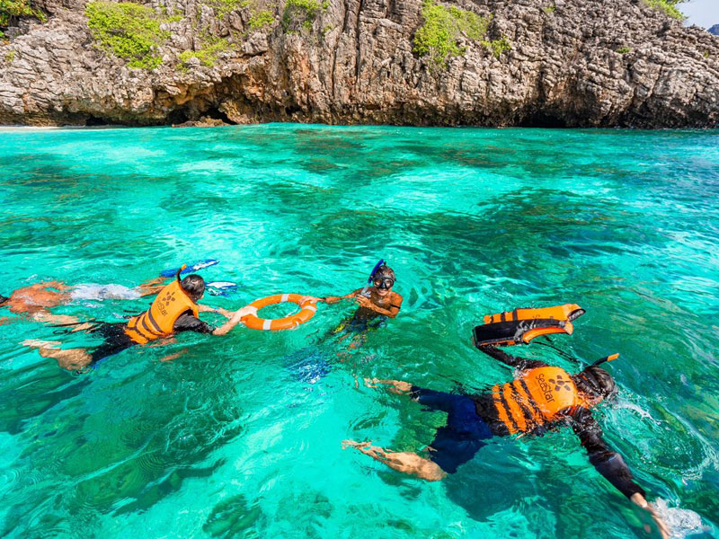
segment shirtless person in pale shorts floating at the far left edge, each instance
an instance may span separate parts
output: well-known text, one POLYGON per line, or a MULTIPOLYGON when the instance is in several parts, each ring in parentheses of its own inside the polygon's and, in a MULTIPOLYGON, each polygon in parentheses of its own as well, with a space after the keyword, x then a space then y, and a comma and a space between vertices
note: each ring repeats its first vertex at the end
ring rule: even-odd
POLYGON ((164 287, 165 277, 150 279, 138 287, 121 285, 77 285, 69 287, 54 280, 14 290, 9 297, 0 296, 0 307, 35 322, 70 324, 79 322, 75 316, 52 314, 50 309, 79 300, 138 299, 157 294, 164 287))

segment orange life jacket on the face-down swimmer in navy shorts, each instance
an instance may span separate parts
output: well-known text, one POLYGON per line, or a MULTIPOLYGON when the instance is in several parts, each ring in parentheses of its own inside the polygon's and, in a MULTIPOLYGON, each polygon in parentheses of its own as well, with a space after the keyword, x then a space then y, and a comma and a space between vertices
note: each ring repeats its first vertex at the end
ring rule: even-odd
POLYGON ((530 432, 551 423, 568 408, 589 408, 572 378, 560 367, 529 369, 513 382, 495 385, 492 398, 510 434, 530 432))

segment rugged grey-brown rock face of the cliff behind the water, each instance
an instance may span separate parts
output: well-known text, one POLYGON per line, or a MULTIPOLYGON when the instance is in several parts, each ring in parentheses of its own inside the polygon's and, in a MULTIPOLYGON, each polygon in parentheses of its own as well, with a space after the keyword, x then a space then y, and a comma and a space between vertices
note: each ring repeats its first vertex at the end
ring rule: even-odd
POLYGON ((288 0, 262 1, 224 13, 198 0, 152 0, 157 13, 184 15, 164 23, 172 37, 158 51, 162 65, 148 71, 93 44, 84 0, 44 0, 48 22, 22 22, 20 35, 0 41, 0 124, 719 122, 719 38, 642 0, 457 0, 447 5, 492 14, 488 39, 503 36, 511 49, 495 57, 467 39, 446 66, 413 52, 422 0, 330 0, 289 25, 288 0), (258 9, 274 21, 253 29, 258 9), (234 48, 213 66, 182 64, 203 32, 234 48))

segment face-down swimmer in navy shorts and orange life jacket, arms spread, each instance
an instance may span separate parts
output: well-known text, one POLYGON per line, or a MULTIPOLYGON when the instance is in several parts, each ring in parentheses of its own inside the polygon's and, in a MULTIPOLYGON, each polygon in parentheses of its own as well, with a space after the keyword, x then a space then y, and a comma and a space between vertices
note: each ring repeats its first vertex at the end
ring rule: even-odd
POLYGON ((370 442, 344 440, 342 448, 354 447, 402 473, 427 481, 439 481, 470 461, 486 441, 495 436, 532 434, 541 436, 548 429, 572 427, 594 465, 608 482, 640 508, 650 513, 665 539, 669 529, 646 501, 642 487, 633 482, 623 458, 602 438, 591 409, 613 397, 617 384, 599 363, 577 375, 542 361, 515 358, 492 346, 478 346, 484 353, 519 371, 513 382, 495 385, 490 393, 466 396, 423 389, 399 380, 367 380, 369 387, 389 385, 389 391, 407 394, 431 411, 447 412, 447 425, 437 430, 426 457, 411 452, 393 452, 370 442))

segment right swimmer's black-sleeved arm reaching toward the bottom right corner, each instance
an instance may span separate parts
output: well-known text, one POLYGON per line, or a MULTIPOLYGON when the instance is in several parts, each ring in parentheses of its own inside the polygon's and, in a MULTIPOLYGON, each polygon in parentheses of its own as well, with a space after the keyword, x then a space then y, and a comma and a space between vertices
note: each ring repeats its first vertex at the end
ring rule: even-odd
POLYGON ((592 417, 591 412, 586 408, 580 408, 573 412, 571 420, 572 429, 580 438, 581 446, 587 450, 590 463, 626 498, 647 511, 656 524, 661 537, 669 539, 669 526, 661 519, 656 509, 649 505, 644 489, 632 481, 634 477, 622 455, 612 451, 604 441, 599 423, 592 417))

